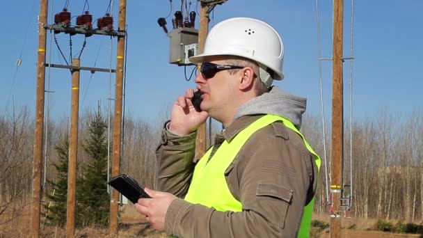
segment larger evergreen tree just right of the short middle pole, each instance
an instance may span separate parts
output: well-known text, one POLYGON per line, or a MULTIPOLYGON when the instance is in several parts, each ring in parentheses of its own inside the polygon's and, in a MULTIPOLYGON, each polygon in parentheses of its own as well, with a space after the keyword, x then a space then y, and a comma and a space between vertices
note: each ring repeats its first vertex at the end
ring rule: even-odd
POLYGON ((100 111, 88 125, 89 136, 83 144, 88 164, 83 167, 77 193, 79 214, 83 225, 109 224, 110 196, 107 193, 106 122, 100 111))

